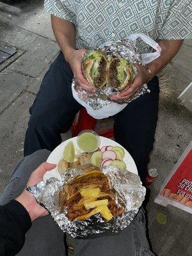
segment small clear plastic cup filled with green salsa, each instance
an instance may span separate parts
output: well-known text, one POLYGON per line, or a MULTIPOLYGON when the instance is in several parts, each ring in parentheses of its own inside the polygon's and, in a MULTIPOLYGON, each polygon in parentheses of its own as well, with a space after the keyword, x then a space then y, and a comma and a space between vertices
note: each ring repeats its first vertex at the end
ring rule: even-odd
POLYGON ((93 152, 100 146, 100 136, 93 130, 84 130, 77 136, 77 145, 83 152, 93 152))

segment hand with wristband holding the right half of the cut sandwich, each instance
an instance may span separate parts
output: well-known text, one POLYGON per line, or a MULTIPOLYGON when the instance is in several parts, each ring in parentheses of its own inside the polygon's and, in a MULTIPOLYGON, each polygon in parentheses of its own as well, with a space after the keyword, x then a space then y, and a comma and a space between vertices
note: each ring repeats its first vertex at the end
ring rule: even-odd
POLYGON ((138 75, 135 77, 131 86, 127 86, 124 90, 122 90, 122 92, 112 95, 110 97, 111 100, 129 99, 132 97, 132 95, 134 95, 134 93, 140 90, 143 84, 147 83, 150 77, 148 69, 139 64, 136 64, 135 66, 138 68, 138 75))

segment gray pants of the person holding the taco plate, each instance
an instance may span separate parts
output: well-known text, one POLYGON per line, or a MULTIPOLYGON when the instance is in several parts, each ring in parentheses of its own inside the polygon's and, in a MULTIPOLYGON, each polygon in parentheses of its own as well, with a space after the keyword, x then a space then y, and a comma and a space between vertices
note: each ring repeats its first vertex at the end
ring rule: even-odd
MULTIPOLYGON (((8 186, 0 196, 0 204, 6 204, 20 195, 29 176, 41 163, 47 160, 50 152, 38 150, 24 157, 16 166, 8 186)), ((18 256, 65 256, 63 232, 50 216, 33 221, 26 233, 26 241, 18 256)), ((95 239, 77 239, 74 256, 150 256, 145 233, 145 214, 140 210, 129 227, 116 236, 95 239)))

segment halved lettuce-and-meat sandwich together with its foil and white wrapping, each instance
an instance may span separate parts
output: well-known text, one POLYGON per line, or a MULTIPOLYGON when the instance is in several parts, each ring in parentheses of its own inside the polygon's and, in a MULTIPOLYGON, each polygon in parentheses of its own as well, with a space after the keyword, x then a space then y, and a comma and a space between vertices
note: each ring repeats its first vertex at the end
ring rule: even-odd
POLYGON ((150 92, 147 84, 143 84, 131 98, 111 100, 111 95, 131 86, 134 78, 138 75, 135 64, 141 64, 141 54, 132 40, 122 39, 116 42, 105 42, 98 49, 86 51, 82 61, 84 77, 97 90, 95 92, 84 90, 74 78, 72 93, 77 102, 86 108, 88 114, 97 119, 115 115, 124 108, 124 104, 150 92), (116 105, 111 108, 113 102, 116 105), (117 104, 122 105, 122 107, 116 108, 117 104), (107 109, 108 106, 109 109, 107 109), (104 111, 98 112, 102 108, 104 111))

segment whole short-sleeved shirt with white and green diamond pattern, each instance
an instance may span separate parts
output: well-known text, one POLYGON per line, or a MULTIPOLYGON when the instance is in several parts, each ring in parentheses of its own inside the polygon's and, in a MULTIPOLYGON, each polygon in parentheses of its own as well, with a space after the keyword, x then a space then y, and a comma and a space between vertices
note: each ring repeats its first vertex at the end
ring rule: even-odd
MULTIPOLYGON (((145 33, 154 40, 191 38, 191 0, 45 0, 45 11, 76 26, 77 49, 145 33)), ((150 51, 139 40, 141 52, 150 51)))

